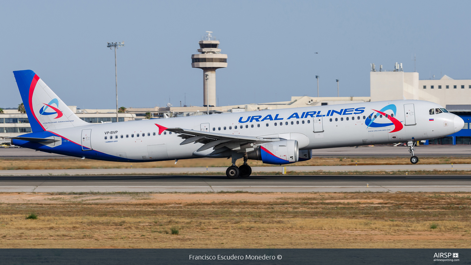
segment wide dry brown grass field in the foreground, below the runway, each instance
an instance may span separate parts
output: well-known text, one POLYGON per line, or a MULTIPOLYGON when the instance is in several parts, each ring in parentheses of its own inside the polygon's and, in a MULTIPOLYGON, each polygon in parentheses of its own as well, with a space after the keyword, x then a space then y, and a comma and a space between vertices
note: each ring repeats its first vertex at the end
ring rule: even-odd
POLYGON ((471 193, 459 192, 3 193, 0 200, 0 248, 469 248, 471 239, 471 193), (32 213, 38 219, 25 219, 32 213))

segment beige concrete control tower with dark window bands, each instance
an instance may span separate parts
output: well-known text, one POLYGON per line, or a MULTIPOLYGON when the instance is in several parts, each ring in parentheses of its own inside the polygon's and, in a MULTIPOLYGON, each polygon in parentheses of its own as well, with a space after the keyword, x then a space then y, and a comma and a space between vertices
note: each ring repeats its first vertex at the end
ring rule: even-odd
POLYGON ((198 49, 199 54, 191 55, 191 67, 203 69, 203 105, 216 106, 216 69, 227 67, 227 54, 221 54, 219 41, 207 31, 198 49))

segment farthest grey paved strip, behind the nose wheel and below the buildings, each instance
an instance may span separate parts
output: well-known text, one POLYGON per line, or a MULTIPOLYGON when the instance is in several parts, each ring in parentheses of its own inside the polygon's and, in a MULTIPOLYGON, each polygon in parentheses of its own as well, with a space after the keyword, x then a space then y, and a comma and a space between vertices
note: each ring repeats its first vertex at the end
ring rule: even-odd
MULTIPOLYGON (((471 155, 471 145, 419 145, 415 154, 418 157, 463 157, 471 155)), ((313 157, 410 157, 406 146, 362 146, 339 147, 312 150, 313 157)), ((27 148, 0 148, 0 158, 76 158, 34 151, 27 148)))

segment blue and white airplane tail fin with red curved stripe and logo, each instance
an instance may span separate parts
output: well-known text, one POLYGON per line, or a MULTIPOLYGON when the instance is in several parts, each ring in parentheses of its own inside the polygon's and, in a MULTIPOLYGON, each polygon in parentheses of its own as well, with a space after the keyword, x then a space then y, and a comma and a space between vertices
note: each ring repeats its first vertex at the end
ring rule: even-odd
POLYGON ((87 125, 31 70, 13 71, 33 132, 87 125))

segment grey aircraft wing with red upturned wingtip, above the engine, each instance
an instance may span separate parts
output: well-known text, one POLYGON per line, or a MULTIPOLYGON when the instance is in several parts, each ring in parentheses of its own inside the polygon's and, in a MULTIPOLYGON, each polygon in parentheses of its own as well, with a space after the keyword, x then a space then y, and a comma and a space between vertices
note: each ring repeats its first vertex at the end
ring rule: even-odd
POLYGON ((197 152, 213 148, 211 155, 222 153, 226 150, 234 150, 236 152, 252 151, 254 146, 270 141, 280 141, 280 138, 262 138, 243 135, 232 135, 215 132, 203 132, 188 130, 183 128, 166 128, 166 131, 178 133, 179 137, 185 139, 180 145, 188 143, 203 143, 197 152))

